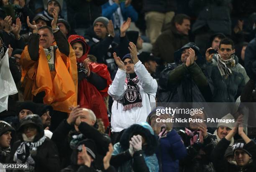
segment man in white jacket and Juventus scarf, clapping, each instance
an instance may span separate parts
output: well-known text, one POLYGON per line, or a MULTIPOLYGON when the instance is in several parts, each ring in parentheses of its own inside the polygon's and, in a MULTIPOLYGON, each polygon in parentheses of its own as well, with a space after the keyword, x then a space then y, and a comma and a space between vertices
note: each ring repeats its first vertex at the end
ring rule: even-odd
POLYGON ((131 53, 122 60, 113 53, 118 65, 115 79, 108 89, 114 100, 111 115, 113 133, 119 133, 132 124, 146 122, 156 102, 157 82, 139 61, 136 46, 131 42, 129 46, 131 53))

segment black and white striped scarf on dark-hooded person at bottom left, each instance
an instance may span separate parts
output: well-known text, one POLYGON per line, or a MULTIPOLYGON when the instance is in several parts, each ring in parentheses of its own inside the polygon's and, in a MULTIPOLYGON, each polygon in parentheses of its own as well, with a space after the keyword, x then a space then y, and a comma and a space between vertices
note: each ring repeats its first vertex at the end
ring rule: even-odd
POLYGON ((22 142, 16 150, 13 161, 16 163, 26 163, 29 164, 29 169, 25 172, 33 172, 35 169, 35 160, 31 154, 36 155, 37 148, 41 146, 46 140, 46 136, 43 136, 37 142, 22 142))

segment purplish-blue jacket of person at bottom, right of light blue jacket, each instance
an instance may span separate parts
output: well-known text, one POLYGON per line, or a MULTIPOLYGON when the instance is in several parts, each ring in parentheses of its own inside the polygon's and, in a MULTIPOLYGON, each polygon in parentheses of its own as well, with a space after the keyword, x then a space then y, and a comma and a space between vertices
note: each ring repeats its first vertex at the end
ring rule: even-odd
POLYGON ((182 138, 173 129, 167 133, 167 137, 160 140, 156 156, 161 172, 179 172, 179 159, 187 156, 187 149, 182 138))

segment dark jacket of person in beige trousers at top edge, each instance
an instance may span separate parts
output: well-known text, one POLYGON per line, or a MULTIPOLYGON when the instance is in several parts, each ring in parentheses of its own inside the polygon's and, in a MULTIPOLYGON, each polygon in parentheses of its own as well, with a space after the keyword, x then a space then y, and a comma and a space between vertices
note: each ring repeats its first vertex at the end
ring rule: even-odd
POLYGON ((143 0, 143 11, 156 11, 159 13, 167 13, 177 10, 176 0, 143 0))

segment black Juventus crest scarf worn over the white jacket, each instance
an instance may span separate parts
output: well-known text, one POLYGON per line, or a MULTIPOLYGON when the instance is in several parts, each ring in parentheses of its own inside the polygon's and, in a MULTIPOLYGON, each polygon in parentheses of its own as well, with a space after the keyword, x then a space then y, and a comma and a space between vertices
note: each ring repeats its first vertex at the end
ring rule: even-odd
POLYGON ((142 107, 142 99, 140 89, 137 85, 138 76, 135 73, 126 74, 127 86, 124 93, 123 111, 132 109, 133 107, 142 107))

